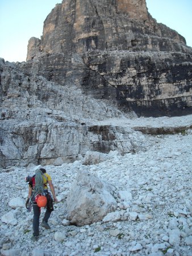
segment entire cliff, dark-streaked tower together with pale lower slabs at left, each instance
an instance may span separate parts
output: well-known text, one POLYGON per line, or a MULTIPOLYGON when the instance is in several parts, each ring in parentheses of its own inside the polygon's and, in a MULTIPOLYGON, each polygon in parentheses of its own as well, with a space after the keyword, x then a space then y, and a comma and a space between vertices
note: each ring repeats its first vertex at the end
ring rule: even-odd
POLYGON ((107 118, 191 113, 191 48, 145 0, 65 0, 26 63, 0 60, 0 166, 135 152, 143 137, 107 118))

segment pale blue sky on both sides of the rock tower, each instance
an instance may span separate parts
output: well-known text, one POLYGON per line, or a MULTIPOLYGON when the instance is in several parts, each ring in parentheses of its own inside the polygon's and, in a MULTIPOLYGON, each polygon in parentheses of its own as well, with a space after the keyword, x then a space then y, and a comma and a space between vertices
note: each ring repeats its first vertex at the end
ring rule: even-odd
MULTIPOLYGON (((0 57, 26 61, 28 40, 43 34, 43 22, 62 0, 0 0, 0 57)), ((192 47, 192 1, 146 0, 149 13, 159 23, 176 30, 192 47)))

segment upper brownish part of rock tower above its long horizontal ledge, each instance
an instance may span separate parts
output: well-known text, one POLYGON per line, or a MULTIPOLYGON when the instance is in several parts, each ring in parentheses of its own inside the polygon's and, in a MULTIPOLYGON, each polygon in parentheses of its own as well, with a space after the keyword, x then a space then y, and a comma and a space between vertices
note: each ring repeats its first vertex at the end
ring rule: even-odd
POLYGON ((66 0, 45 19, 42 39, 30 39, 27 60, 45 52, 94 49, 184 51, 170 40, 185 44, 176 31, 151 17, 145 0, 66 0), (160 37, 165 42, 158 42, 160 37))

